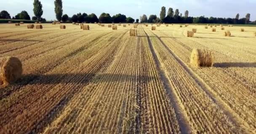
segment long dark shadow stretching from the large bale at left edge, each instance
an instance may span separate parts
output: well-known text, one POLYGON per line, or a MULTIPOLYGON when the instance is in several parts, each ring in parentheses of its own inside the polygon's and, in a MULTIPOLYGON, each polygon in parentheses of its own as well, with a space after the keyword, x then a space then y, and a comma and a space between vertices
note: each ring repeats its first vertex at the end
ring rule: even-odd
POLYGON ((135 81, 137 79, 141 82, 148 82, 154 77, 149 76, 135 76, 135 75, 126 75, 126 74, 49 74, 49 75, 23 75, 20 81, 27 81, 27 84, 58 84, 58 83, 74 83, 74 84, 86 84, 88 82, 100 83, 100 82, 127 82, 135 81), (35 79, 33 79, 35 78, 35 79))

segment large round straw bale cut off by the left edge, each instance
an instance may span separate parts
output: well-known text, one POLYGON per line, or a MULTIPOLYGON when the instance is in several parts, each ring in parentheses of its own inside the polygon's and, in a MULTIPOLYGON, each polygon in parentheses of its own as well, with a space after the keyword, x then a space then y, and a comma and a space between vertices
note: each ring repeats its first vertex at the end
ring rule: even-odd
POLYGON ((7 86, 21 77, 22 63, 16 57, 0 58, 0 85, 7 86))

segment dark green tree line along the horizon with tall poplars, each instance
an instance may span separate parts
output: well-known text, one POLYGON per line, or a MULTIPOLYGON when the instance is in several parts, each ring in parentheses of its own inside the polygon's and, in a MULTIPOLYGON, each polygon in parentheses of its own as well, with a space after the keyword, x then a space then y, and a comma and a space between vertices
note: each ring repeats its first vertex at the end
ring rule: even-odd
MULTIPOLYGON (((46 21, 45 18, 41 18, 43 15, 43 5, 41 4, 40 0, 34 0, 34 8, 33 12, 34 15, 32 17, 32 20, 34 21, 46 21)), ((77 13, 72 15, 72 17, 69 17, 67 14, 63 15, 62 10, 62 0, 55 0, 54 1, 54 11, 56 14, 56 19, 58 21, 63 22, 86 22, 86 23, 94 23, 94 22, 100 22, 100 23, 139 23, 139 19, 136 19, 136 21, 131 17, 126 17, 123 14, 116 14, 112 17, 109 15, 109 13, 101 13, 99 18, 94 14, 86 14, 86 13, 77 13)), ((182 13, 179 12, 179 9, 176 9, 175 11, 173 8, 169 8, 168 12, 166 14, 166 8, 163 6, 160 10, 160 18, 157 17, 157 15, 149 15, 149 18, 147 18, 147 15, 142 15, 140 17, 141 23, 229 23, 229 24, 248 24, 248 23, 255 23, 250 21, 250 13, 247 13, 245 15, 245 18, 239 18, 239 13, 235 16, 235 18, 215 18, 215 17, 190 17, 189 11, 186 10, 184 13, 184 16, 182 16, 182 13)), ((2 10, 0 12, 0 18, 5 19, 11 19, 10 14, 2 10)), ((30 20, 30 16, 27 13, 27 11, 21 11, 21 13, 18 13, 12 19, 23 19, 23 20, 30 20)))

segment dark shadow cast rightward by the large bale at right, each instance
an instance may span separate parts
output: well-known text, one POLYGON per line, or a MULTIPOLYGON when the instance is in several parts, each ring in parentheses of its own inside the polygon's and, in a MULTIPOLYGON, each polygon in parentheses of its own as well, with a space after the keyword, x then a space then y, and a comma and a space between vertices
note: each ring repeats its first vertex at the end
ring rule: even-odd
POLYGON ((215 63, 214 67, 256 67, 256 62, 223 62, 215 63))

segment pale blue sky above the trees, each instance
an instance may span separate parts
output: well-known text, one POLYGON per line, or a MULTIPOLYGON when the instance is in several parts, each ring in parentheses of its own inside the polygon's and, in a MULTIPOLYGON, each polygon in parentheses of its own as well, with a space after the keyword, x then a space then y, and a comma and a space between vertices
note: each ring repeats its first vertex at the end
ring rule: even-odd
MULTIPOLYGON (((0 10, 7 10, 11 16, 26 10, 30 17, 33 13, 34 0, 0 0, 0 10)), ((189 16, 205 17, 231 17, 237 13, 240 18, 246 13, 251 13, 251 21, 256 20, 256 0, 62 0, 63 13, 69 16, 77 13, 95 13, 98 17, 101 13, 109 13, 111 16, 117 13, 125 14, 134 19, 142 14, 159 16, 162 6, 179 9, 184 15, 185 10, 189 16)), ((54 0, 41 0, 43 4, 43 18, 54 20, 54 0)))

